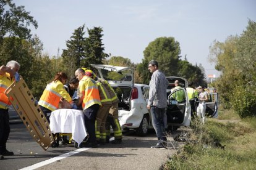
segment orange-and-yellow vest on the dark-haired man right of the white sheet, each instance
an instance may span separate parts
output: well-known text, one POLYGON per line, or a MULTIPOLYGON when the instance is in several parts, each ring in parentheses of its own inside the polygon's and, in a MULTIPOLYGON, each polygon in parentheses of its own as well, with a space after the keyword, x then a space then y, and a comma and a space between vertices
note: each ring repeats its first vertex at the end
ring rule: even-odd
POLYGON ((83 110, 95 104, 101 105, 99 89, 92 78, 83 76, 79 81, 79 91, 82 94, 83 110))

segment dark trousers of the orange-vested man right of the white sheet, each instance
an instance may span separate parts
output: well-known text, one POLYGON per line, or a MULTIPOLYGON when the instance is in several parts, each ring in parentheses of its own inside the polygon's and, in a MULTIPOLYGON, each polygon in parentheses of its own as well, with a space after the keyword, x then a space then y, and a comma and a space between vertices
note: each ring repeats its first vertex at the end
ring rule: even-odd
POLYGON ((85 115, 85 128, 90 136, 88 139, 89 143, 96 142, 95 120, 96 120, 96 114, 99 108, 100 108, 100 105, 95 104, 83 110, 83 114, 85 115))

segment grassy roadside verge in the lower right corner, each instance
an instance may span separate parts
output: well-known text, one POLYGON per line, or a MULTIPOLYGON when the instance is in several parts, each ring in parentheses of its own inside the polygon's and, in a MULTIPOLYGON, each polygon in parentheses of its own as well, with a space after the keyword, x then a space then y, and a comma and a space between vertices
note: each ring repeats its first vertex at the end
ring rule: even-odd
POLYGON ((255 129, 256 118, 194 121, 186 145, 161 169, 255 169, 255 129))

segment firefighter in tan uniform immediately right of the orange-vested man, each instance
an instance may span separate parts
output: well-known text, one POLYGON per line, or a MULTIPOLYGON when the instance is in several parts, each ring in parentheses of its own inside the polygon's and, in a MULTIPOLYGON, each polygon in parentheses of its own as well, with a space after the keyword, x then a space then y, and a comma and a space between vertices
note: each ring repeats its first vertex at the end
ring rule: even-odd
MULTIPOLYGON (((85 75, 96 80, 96 75, 92 70, 86 70, 85 75)), ((96 115, 96 142, 100 144, 106 143, 106 118, 108 117, 109 109, 112 106, 111 97, 108 89, 103 83, 96 81, 100 93, 100 102, 102 106, 99 108, 96 115)))

